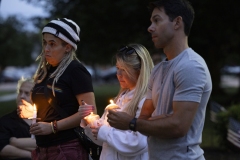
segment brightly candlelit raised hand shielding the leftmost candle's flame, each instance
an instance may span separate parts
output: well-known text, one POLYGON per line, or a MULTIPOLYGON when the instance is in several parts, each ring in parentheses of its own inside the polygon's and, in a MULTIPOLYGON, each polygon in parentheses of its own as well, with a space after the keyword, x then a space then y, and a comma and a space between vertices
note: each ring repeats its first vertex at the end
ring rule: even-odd
POLYGON ((22 99, 22 104, 17 107, 17 114, 20 118, 29 118, 33 116, 33 106, 31 103, 22 99))

